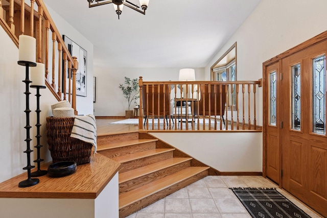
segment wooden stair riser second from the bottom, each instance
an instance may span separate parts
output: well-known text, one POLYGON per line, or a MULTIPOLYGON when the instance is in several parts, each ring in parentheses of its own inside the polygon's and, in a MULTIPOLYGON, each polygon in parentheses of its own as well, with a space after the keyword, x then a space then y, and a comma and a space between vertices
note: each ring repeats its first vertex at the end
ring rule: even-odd
POLYGON ((171 174, 174 174, 178 171, 181 171, 184 168, 190 167, 191 161, 185 161, 164 169, 161 169, 160 171, 144 175, 142 177, 139 177, 137 179, 133 179, 124 183, 119 184, 119 192, 123 193, 125 191, 130 191, 134 188, 141 187, 143 185, 146 185, 150 182, 154 182, 158 179, 164 178, 166 176, 169 176, 171 174))

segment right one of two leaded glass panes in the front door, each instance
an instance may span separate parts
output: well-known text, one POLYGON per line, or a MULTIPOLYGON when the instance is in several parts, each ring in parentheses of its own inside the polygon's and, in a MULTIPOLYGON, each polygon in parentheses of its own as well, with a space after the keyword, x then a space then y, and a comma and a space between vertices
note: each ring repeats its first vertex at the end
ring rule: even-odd
POLYGON ((325 56, 313 59, 313 132, 324 135, 325 124, 325 56))

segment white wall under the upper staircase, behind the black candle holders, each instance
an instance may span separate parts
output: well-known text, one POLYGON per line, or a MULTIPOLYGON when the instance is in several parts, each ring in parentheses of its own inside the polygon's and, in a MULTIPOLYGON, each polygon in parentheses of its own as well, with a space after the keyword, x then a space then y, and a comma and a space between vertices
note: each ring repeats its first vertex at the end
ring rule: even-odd
MULTIPOLYGON (((25 67, 17 64, 18 48, 4 29, 0 28, 0 165, 5 166, 0 174, 0 182, 10 179, 23 172, 22 167, 27 165, 26 150, 26 95, 25 67)), ((30 88, 30 145, 36 146, 36 90, 30 88)), ((45 117, 51 115, 51 105, 57 102, 49 89, 40 89, 40 124, 41 135, 45 136, 45 117)), ((51 159, 45 137, 41 137, 41 158, 46 162, 51 159)), ((31 153, 31 160, 36 159, 36 152, 31 153)), ((33 162, 32 162, 33 165, 33 162)))

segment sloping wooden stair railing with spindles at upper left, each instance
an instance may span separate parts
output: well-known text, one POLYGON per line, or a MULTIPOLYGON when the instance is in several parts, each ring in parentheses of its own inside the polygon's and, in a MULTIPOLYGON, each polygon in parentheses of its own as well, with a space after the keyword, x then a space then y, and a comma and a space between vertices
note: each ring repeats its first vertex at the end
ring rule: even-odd
POLYGON ((68 52, 43 1, 31 0, 26 3, 25 0, 0 0, 0 25, 17 47, 19 35, 30 35, 36 38, 36 62, 45 65, 46 86, 58 101, 67 100, 68 96, 68 101, 71 102, 77 114, 77 58, 72 57, 68 52), (64 84, 63 87, 61 87, 62 84, 64 84))

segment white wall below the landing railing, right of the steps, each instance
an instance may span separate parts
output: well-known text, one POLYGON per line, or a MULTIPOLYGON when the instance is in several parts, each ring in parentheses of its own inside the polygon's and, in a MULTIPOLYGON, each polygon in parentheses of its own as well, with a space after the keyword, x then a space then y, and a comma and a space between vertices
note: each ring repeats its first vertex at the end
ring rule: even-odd
POLYGON ((220 172, 262 172, 262 134, 151 133, 220 172))

